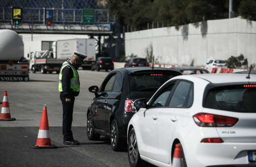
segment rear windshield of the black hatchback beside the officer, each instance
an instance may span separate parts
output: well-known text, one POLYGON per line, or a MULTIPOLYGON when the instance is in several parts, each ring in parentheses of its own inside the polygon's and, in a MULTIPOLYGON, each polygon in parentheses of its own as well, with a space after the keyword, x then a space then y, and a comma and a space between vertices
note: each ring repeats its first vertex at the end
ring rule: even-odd
POLYGON ((170 72, 144 72, 129 75, 131 99, 147 98, 149 100, 163 83, 176 75, 170 72))

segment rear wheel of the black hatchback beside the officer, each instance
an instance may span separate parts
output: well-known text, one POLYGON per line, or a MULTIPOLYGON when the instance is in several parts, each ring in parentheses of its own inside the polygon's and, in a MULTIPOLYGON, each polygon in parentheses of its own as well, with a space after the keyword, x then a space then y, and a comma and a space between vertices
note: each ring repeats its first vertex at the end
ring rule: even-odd
POLYGON ((110 144, 114 151, 121 151, 123 149, 123 140, 120 139, 119 130, 117 127, 117 120, 114 119, 110 127, 110 144))

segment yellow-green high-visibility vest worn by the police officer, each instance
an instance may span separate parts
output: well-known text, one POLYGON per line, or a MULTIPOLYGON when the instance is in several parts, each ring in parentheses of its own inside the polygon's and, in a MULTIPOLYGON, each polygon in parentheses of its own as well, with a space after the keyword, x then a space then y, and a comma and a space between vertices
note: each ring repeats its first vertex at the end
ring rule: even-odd
POLYGON ((71 78, 70 80, 70 88, 73 89, 73 91, 79 92, 80 91, 80 84, 79 84, 79 75, 76 71, 76 69, 74 69, 74 67, 72 65, 70 65, 67 61, 65 61, 62 64, 61 70, 60 70, 60 76, 59 76, 59 91, 62 92, 62 70, 64 67, 69 66, 71 67, 72 71, 73 71, 73 78, 71 78))

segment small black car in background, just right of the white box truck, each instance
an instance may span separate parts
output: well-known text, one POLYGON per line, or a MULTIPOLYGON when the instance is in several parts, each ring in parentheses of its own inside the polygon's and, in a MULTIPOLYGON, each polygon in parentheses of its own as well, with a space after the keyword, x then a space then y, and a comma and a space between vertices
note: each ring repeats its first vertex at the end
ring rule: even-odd
POLYGON ((92 63, 92 71, 94 70, 114 70, 114 61, 110 57, 98 57, 95 62, 92 63))

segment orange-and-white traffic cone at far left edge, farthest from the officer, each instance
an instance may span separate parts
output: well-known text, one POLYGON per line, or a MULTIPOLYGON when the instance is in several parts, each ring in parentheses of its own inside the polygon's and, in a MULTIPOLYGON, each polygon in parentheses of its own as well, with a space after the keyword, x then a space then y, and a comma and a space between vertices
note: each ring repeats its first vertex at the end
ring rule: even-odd
POLYGON ((0 121, 14 121, 15 118, 11 118, 9 102, 7 97, 7 91, 4 91, 3 100, 2 100, 2 110, 0 114, 0 121))

